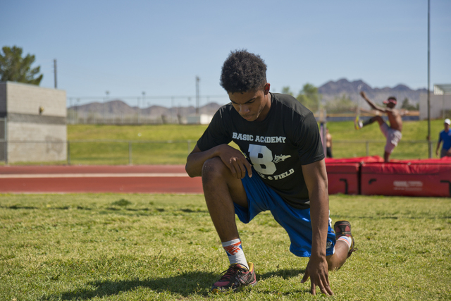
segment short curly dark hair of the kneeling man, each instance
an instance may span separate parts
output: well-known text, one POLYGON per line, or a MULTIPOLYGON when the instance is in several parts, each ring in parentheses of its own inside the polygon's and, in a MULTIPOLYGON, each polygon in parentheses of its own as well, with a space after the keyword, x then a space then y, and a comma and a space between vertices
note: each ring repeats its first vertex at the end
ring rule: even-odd
POLYGON ((266 85, 266 63, 259 55, 246 49, 231 51, 224 61, 221 87, 227 92, 247 92, 263 89, 266 85))

